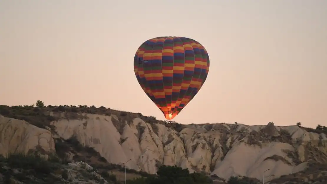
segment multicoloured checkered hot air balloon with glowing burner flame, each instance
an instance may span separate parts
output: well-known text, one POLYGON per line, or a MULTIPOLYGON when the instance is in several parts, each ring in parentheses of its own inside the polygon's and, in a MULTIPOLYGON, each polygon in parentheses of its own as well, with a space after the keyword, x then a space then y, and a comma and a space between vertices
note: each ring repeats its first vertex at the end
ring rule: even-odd
POLYGON ((137 49, 134 71, 146 95, 171 120, 201 89, 209 72, 209 55, 193 39, 156 37, 137 49))

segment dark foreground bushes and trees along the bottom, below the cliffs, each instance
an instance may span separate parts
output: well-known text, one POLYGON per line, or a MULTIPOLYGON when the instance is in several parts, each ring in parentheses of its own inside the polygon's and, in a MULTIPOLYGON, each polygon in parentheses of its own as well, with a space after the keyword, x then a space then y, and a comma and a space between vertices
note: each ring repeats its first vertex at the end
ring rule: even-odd
MULTIPOLYGON (((122 184, 123 181, 117 180, 116 176, 103 170, 89 170, 87 167, 81 167, 75 170, 66 163, 60 162, 55 156, 49 156, 44 159, 39 154, 9 154, 7 158, 0 155, 0 183, 67 183, 92 180, 95 183, 122 184), (96 177, 94 173, 99 173, 101 178, 96 177), (74 174, 75 173, 75 174, 74 174), (76 175, 76 173, 80 173, 76 175)), ((129 171, 128 171, 129 172, 129 171)), ((160 166, 157 175, 148 175, 147 177, 138 177, 133 180, 127 180, 128 184, 211 184, 213 180, 202 173, 189 173, 188 169, 182 169, 177 166, 160 166)), ((239 179, 231 177, 228 184, 256 184, 250 179, 239 179)))

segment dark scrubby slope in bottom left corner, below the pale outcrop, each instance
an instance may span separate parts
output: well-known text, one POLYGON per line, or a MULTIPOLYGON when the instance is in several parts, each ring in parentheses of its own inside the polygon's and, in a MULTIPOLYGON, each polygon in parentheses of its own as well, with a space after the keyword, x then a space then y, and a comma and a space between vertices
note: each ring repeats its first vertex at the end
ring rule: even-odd
POLYGON ((101 179, 85 169, 78 171, 82 174, 80 177, 72 175, 73 170, 51 155, 48 159, 36 153, 9 154, 7 158, 0 155, 0 183, 52 184, 72 182, 81 178, 104 183, 104 179, 101 182, 101 179))

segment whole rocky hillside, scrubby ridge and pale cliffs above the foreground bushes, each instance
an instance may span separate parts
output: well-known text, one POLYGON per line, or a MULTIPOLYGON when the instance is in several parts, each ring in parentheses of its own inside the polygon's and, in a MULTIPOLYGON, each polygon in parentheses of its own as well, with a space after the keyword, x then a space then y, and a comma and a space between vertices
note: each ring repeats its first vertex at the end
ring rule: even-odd
POLYGON ((0 153, 58 155, 97 168, 140 174, 177 165, 215 182, 231 176, 265 183, 326 183, 327 131, 297 125, 181 125, 141 113, 87 106, 0 106, 0 153), (89 150, 89 151, 88 151, 89 150), (91 151, 90 151, 91 150, 91 151), (93 151, 92 151, 93 150, 93 151), (114 168, 111 168, 114 169, 114 168))

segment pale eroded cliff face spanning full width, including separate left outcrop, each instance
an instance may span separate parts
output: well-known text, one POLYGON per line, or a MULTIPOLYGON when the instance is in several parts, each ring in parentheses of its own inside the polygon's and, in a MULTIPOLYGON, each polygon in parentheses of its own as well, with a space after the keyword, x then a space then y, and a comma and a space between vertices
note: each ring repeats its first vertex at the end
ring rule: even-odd
POLYGON ((53 136, 63 139, 75 136, 110 163, 124 164, 130 159, 126 166, 137 171, 156 173, 162 164, 177 165, 225 179, 240 175, 262 180, 265 176, 266 181, 302 171, 309 161, 327 162, 326 135, 307 132, 298 126, 192 124, 176 130, 116 115, 79 114, 73 119, 62 113, 51 115, 60 118, 51 123, 56 135, 24 121, 0 116, 1 132, 5 132, 0 137, 0 146, 8 147, 0 149, 1 153, 17 149, 26 152, 36 146, 51 152, 53 136))

